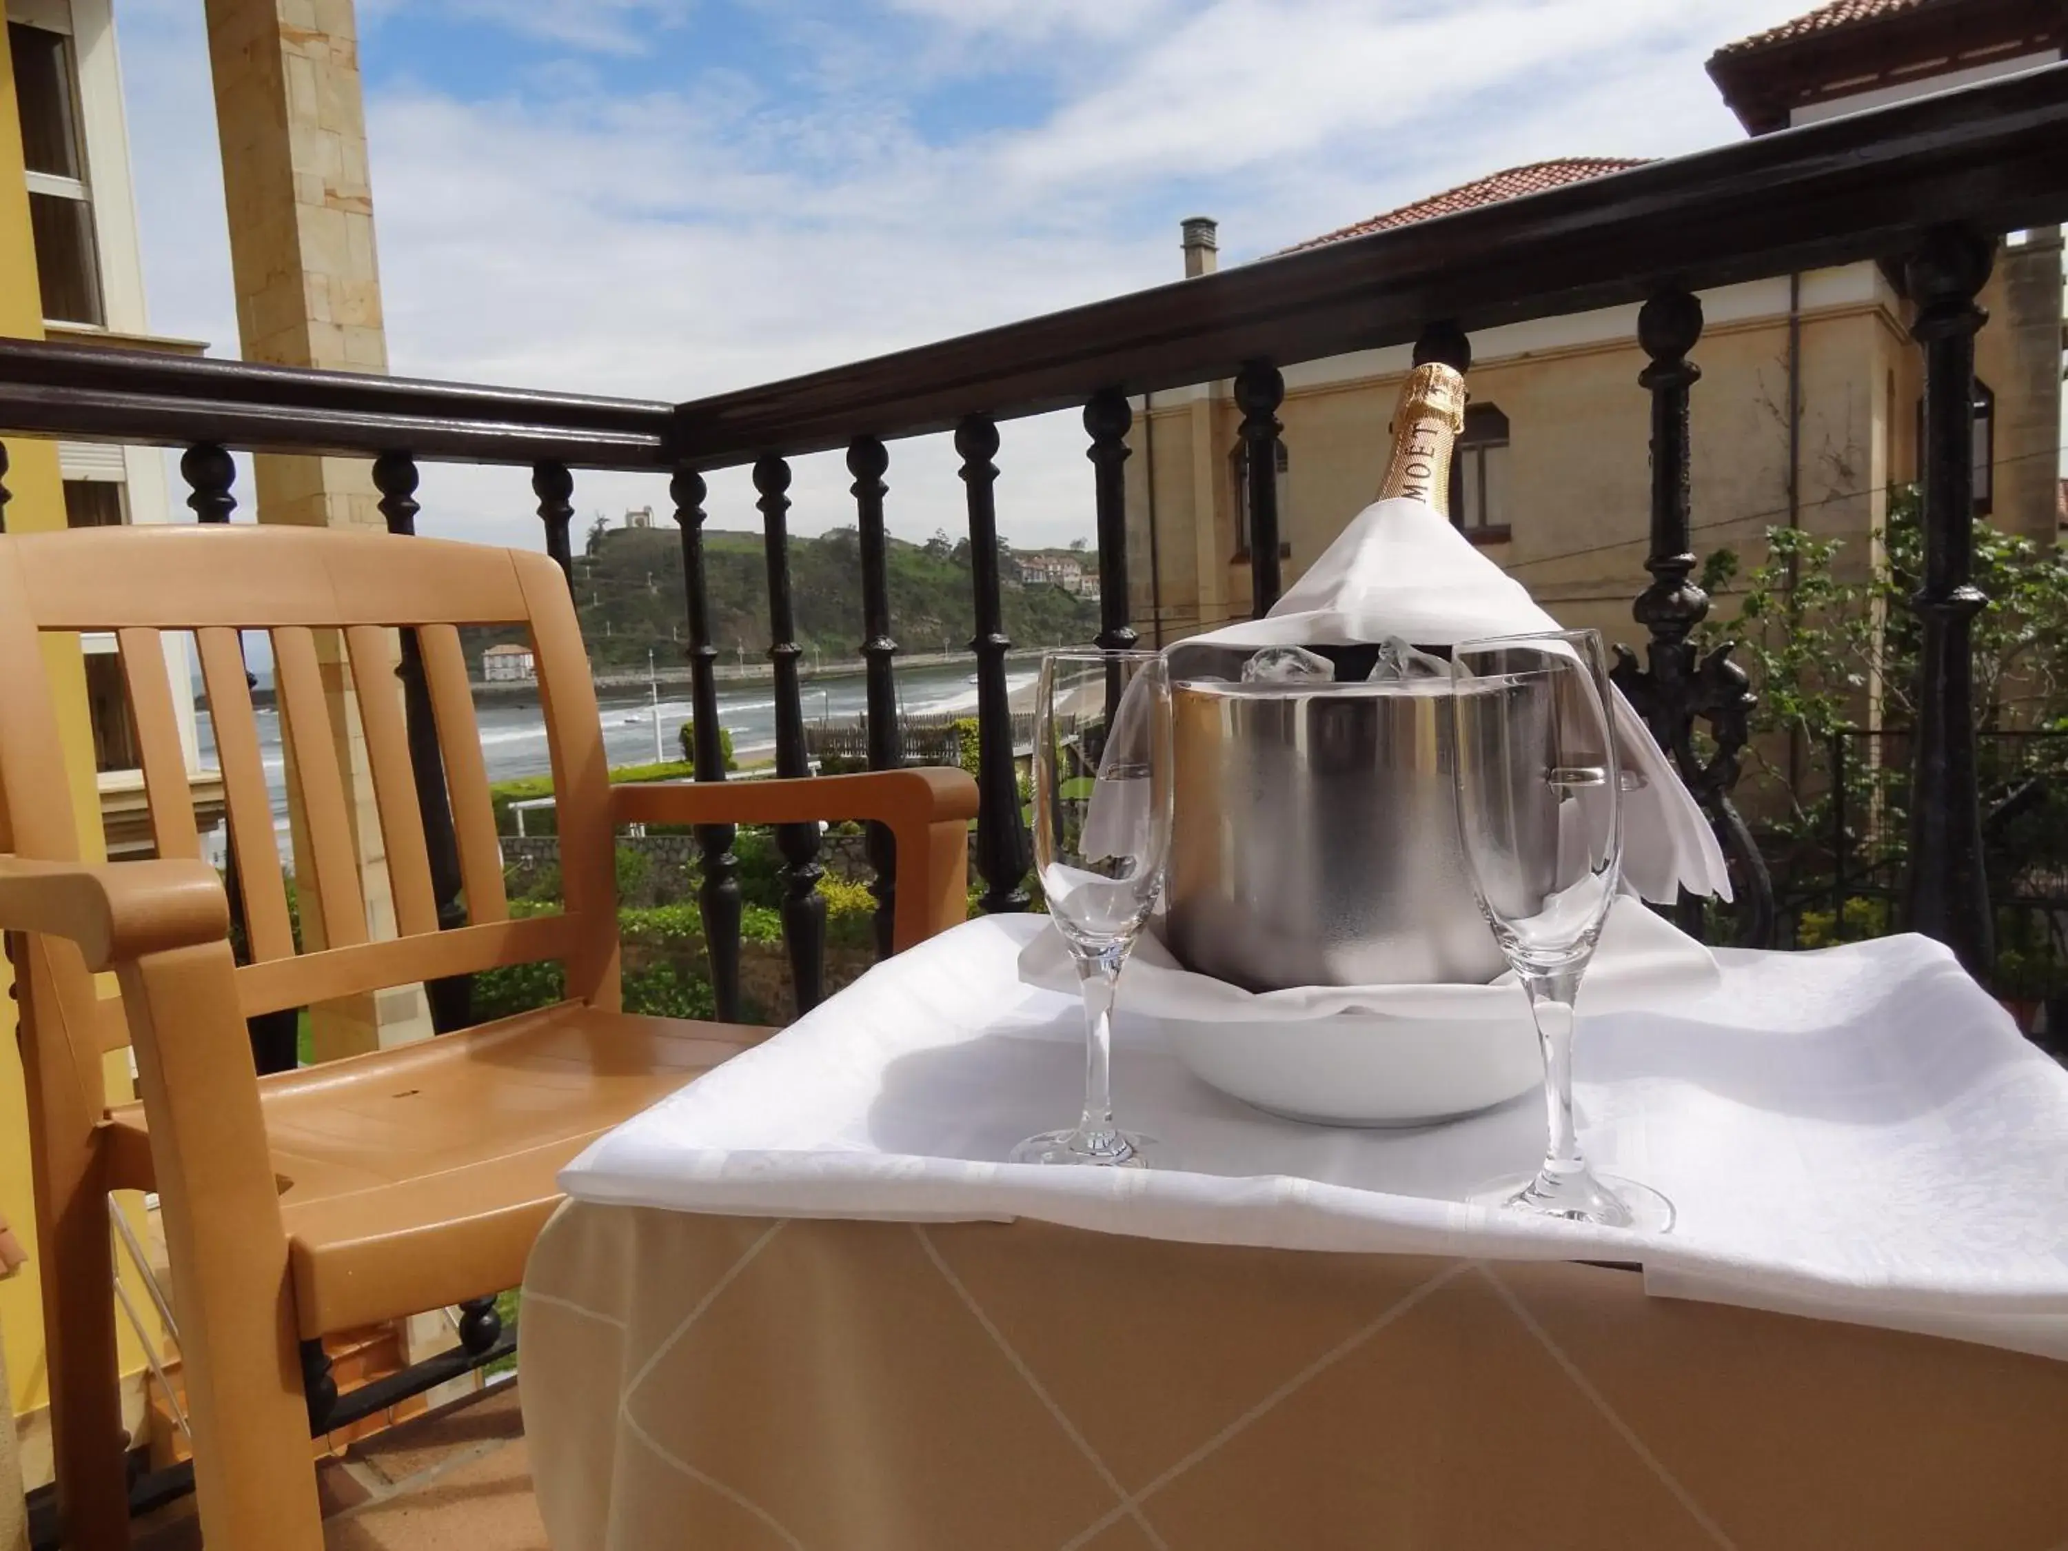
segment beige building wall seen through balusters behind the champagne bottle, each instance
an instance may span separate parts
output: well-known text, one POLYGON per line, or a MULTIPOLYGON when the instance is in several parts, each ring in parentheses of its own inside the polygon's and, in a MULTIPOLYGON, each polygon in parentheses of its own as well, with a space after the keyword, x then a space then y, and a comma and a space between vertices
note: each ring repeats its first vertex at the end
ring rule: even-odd
MULTIPOLYGON (((1977 366, 1998 389, 1998 525, 2051 538, 2051 453, 2060 397, 2060 306, 2037 306, 2060 263, 2045 248, 2002 265, 1985 304, 1994 321, 1977 339, 1977 366), (2023 292, 2023 296, 2018 296, 2023 292), (2054 356, 2041 349, 2054 343, 2054 356), (2037 364, 2035 364, 2037 362, 2037 364), (2045 465, 2045 478, 2033 469, 2045 465)), ((2058 275, 2054 279, 2058 292, 2058 275)), ((1712 325, 1692 352, 1702 378, 1692 393, 1694 552, 1731 548, 1741 571, 1764 558, 1764 531, 1789 521, 1789 329, 1785 316, 1712 325)), ((1650 395, 1638 385, 1646 356, 1636 339, 1594 341, 1481 362, 1474 403, 1510 422, 1512 538, 1487 556, 1518 577, 1563 625, 1594 627, 1611 641, 1642 645, 1632 604, 1646 585, 1650 548, 1650 395)), ((1886 490, 1917 478, 1915 414, 1919 352, 1884 302, 1851 302, 1801 314, 1801 527, 1841 540, 1841 573, 1859 575, 1880 542, 1886 490)), ((1400 374, 1319 383, 1288 391, 1282 562, 1292 585, 1377 492, 1386 426, 1400 374)), ((1164 639, 1241 618, 1249 567, 1235 560, 1235 482, 1228 453, 1241 416, 1224 397, 1160 395, 1137 416, 1129 459, 1129 583, 1137 629, 1160 606, 1164 639), (1202 445, 1204 443, 1204 445, 1202 445), (1152 455, 1150 455, 1152 453, 1152 455), (1150 480, 1156 507, 1156 575, 1146 548, 1150 480)), ((1735 606, 1716 600, 1714 616, 1735 606)), ((1150 635, 1144 629, 1144 635, 1150 635)))

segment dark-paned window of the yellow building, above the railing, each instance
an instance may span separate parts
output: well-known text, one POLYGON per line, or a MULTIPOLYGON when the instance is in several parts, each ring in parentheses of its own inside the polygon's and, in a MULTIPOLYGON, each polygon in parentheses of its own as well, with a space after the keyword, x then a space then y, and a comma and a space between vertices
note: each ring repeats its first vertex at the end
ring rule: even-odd
POLYGON ((79 132, 79 60, 72 39, 10 21, 14 105, 29 180, 35 273, 50 323, 105 323, 101 267, 93 246, 93 188, 79 132))

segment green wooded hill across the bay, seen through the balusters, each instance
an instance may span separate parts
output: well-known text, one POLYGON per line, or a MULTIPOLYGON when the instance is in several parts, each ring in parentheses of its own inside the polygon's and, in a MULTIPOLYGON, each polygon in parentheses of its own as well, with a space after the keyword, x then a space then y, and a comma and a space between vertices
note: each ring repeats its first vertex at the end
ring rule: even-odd
MULTIPOLYGON (((722 660, 769 645, 767 562, 759 534, 705 531, 711 643, 722 660)), ((1001 573, 1013 567, 1001 556, 1001 573)), ((889 540, 891 639, 904 651, 953 649, 974 635, 968 542, 935 536, 926 544, 889 540)), ((790 540, 790 600, 798 645, 825 660, 854 658, 862 643, 862 552, 856 529, 790 540)), ((1090 641, 1098 604, 1061 587, 1001 585, 1005 635, 1015 645, 1090 641)), ((645 666, 653 647, 680 662, 689 625, 682 612, 682 540, 670 527, 612 527, 589 534, 575 556, 575 604, 581 635, 598 668, 645 666)), ((469 641, 469 658, 494 637, 469 641)))

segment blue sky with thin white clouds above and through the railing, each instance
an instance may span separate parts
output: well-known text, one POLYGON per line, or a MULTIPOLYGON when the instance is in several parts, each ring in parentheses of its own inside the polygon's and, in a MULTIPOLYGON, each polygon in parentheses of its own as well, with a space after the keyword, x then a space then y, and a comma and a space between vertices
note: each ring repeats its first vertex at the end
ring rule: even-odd
MULTIPOLYGON (((1702 74, 1810 0, 360 0, 393 370, 685 399, 1179 275, 1522 161, 1737 139, 1702 74)), ((118 0, 153 327, 236 354, 201 6, 118 0)), ((1069 416, 1005 428, 1001 525, 1090 531, 1069 416)), ((941 438, 891 527, 962 525, 941 438)), ((796 527, 852 521, 835 457, 796 527)), ((424 527, 536 542, 515 472, 424 527)), ((589 476, 577 505, 664 505, 589 476)), ((742 478, 713 521, 753 523, 742 478)))

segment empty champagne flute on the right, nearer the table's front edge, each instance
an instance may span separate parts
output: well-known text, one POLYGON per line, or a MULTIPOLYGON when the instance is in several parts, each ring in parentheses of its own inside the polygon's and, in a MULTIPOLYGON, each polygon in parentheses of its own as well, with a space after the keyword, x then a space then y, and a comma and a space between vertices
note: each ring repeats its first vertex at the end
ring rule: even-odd
POLYGON ((1665 1233, 1673 1206, 1596 1175, 1572 1119, 1574 1001, 1623 864, 1615 699, 1596 631, 1466 641, 1452 651, 1458 844, 1479 908, 1530 999, 1549 1144, 1528 1179, 1474 1199, 1570 1222, 1665 1233))

